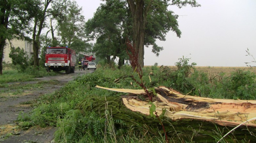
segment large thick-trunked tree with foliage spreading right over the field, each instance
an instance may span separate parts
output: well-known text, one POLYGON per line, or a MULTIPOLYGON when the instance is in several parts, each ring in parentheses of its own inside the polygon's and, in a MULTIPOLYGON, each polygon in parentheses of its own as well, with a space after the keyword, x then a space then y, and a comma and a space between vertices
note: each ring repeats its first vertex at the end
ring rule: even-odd
POLYGON ((144 45, 153 45, 152 52, 158 55, 163 48, 155 44, 156 38, 165 40, 165 34, 170 30, 176 32, 178 37, 181 35, 178 29, 178 15, 168 10, 168 6, 179 8, 187 4, 192 7, 200 6, 195 0, 127 0, 127 2, 133 17, 132 42, 138 53, 140 67, 144 66, 144 45))

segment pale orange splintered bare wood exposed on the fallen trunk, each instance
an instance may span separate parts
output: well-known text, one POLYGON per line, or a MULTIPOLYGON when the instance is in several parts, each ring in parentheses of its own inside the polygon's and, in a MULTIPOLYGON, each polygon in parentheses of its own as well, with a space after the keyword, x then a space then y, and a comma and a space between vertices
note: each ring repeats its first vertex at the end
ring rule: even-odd
MULTIPOLYGON (((132 93, 136 95, 146 93, 144 90, 104 88, 115 92, 132 93)), ((156 112, 172 119, 195 119, 214 122, 222 126, 237 126, 242 122, 256 117, 255 100, 211 99, 190 95, 182 95, 174 90, 164 87, 155 88, 159 100, 154 101, 156 112)), ((149 114, 149 102, 124 97, 123 104, 131 111, 149 114)), ((244 125, 256 127, 256 121, 245 122, 244 125)))

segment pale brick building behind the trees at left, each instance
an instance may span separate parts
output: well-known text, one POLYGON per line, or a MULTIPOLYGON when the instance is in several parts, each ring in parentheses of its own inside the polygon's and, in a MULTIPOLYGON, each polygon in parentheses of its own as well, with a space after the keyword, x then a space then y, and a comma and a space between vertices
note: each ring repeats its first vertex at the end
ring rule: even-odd
POLYGON ((20 47, 21 49, 24 49, 24 51, 27 53, 29 59, 33 56, 33 43, 23 40, 11 40, 6 41, 6 46, 4 47, 4 54, 3 54, 3 62, 5 63, 12 63, 12 59, 9 57, 10 51, 11 51, 11 44, 13 47, 17 48, 20 47))

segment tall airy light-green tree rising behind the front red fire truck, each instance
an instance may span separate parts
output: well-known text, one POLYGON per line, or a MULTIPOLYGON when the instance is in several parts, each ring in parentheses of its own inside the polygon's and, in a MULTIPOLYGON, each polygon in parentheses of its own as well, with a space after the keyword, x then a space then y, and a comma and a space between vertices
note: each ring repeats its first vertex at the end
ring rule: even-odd
MULTIPOLYGON (((82 15, 82 8, 78 6, 76 1, 55 0, 51 7, 52 19, 56 20, 57 36, 61 39, 59 44, 68 46, 77 52, 84 51, 86 47, 90 46, 86 42, 83 28, 85 19, 82 15)), ((52 37, 55 39, 54 36, 52 37)))

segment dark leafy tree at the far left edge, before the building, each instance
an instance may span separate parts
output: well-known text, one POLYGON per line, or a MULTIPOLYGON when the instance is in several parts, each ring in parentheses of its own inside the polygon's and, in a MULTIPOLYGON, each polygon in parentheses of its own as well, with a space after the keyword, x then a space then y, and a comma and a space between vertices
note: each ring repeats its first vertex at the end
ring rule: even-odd
POLYGON ((0 0, 0 74, 6 40, 27 38, 29 20, 37 8, 37 0, 0 0))

